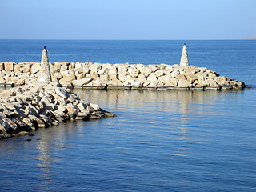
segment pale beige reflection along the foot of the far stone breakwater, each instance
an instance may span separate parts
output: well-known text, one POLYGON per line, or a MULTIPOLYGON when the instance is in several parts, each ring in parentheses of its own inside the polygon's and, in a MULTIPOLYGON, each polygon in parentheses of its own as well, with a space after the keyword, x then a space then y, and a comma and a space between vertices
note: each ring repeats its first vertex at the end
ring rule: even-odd
POLYGON ((74 89, 75 94, 86 102, 98 103, 102 108, 120 110, 128 108, 134 111, 154 110, 178 114, 183 126, 190 114, 206 115, 215 113, 214 105, 220 105, 230 97, 238 97, 242 91, 216 90, 82 90, 74 89))

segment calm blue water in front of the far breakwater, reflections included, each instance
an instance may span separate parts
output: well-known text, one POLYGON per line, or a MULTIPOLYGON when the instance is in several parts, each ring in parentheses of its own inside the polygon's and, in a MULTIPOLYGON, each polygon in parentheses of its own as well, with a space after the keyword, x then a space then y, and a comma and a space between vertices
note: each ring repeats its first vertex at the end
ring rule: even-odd
POLYGON ((255 89, 74 90, 118 114, 0 141, 4 191, 255 191, 255 89))

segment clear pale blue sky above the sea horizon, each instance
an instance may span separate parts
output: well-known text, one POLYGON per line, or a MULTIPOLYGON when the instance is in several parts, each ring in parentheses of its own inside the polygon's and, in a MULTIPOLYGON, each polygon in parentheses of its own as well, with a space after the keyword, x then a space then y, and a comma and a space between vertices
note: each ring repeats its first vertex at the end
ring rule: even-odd
POLYGON ((0 0, 0 39, 256 38, 256 0, 0 0))

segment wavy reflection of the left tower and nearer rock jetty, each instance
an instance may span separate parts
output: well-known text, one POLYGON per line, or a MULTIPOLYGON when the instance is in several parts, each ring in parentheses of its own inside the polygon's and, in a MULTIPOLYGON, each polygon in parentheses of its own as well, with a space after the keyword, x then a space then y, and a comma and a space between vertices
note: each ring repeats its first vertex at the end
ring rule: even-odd
POLYGON ((46 191, 52 188, 53 168, 62 165, 65 157, 62 157, 62 150, 70 148, 70 137, 76 134, 83 134, 85 128, 80 122, 62 122, 59 126, 48 129, 40 129, 37 133, 37 149, 39 170, 42 172, 41 190, 46 191))

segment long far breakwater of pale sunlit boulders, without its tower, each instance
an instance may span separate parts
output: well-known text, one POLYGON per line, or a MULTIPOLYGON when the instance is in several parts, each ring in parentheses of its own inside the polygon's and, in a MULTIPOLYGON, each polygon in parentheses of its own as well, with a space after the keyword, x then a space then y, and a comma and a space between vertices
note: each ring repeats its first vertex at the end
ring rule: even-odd
MULTIPOLYGON (((38 82, 39 62, 0 62, 0 85, 38 82)), ((50 63, 53 82, 96 89, 216 89, 239 90, 244 82, 218 75, 205 67, 175 65, 50 63)))

